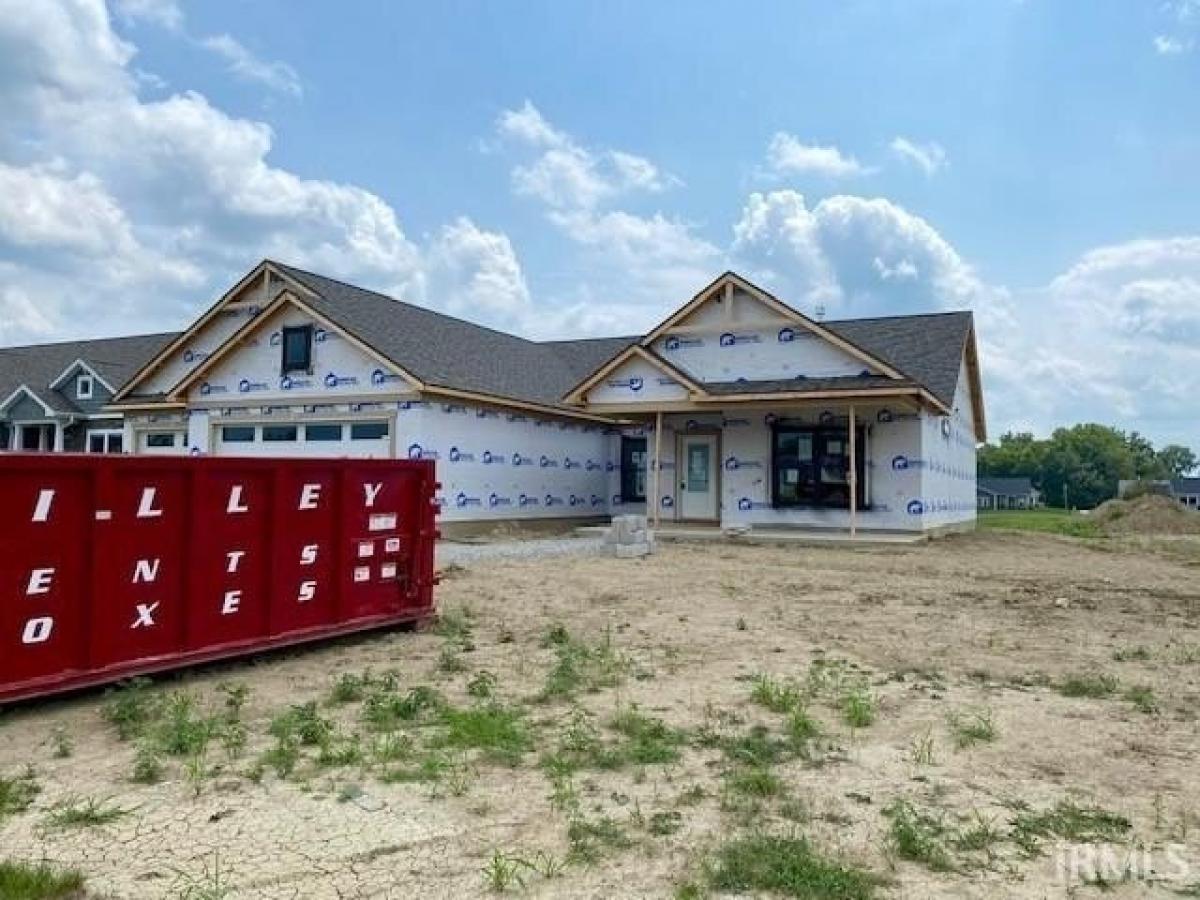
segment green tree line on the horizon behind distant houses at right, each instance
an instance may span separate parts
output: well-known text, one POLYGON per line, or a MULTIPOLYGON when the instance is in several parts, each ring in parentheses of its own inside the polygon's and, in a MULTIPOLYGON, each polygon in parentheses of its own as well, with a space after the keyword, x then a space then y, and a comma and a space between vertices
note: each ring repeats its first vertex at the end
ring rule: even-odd
POLYGON ((1116 497, 1122 479, 1180 478, 1196 462, 1180 444, 1156 450, 1135 431, 1094 424, 1056 428, 1049 438, 1009 432, 979 450, 980 475, 1028 475, 1048 505, 1079 509, 1116 497))

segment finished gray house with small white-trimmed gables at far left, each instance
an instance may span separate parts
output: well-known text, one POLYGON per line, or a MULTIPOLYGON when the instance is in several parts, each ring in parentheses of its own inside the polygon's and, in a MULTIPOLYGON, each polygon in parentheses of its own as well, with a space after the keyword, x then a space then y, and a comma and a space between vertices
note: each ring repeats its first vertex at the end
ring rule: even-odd
POLYGON ((121 452, 116 388, 174 335, 0 349, 0 450, 121 452))

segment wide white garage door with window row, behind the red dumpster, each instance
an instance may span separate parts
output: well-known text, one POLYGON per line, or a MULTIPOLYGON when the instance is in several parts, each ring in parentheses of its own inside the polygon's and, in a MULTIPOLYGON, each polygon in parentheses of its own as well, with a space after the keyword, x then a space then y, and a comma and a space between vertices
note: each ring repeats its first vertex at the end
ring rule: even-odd
POLYGON ((217 456, 390 458, 391 428, 385 421, 263 422, 218 425, 217 456))

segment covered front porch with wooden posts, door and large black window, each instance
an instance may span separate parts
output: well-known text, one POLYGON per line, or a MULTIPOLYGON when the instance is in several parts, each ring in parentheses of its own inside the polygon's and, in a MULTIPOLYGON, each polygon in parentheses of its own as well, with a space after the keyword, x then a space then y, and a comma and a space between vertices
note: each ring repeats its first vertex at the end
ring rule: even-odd
POLYGON ((973 466, 955 464, 941 418, 907 397, 666 408, 636 419, 620 434, 618 496, 664 539, 902 542, 940 511, 926 499, 932 478, 959 482, 964 504, 974 505, 973 466), (926 449, 942 450, 936 464, 926 449))

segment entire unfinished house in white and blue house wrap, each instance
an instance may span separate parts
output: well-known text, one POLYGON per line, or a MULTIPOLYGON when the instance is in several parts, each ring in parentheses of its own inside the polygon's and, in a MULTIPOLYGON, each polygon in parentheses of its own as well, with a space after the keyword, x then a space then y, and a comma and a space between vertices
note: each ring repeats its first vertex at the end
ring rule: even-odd
POLYGON ((727 272, 648 335, 535 342, 264 260, 128 340, 126 452, 432 458, 450 523, 974 520, 968 312, 815 322, 727 272))

